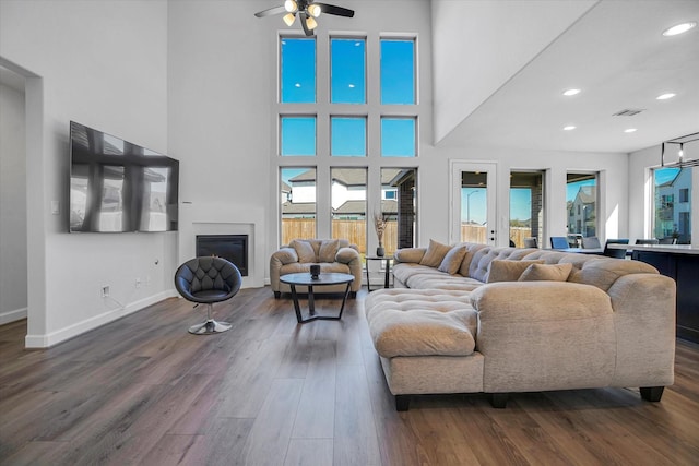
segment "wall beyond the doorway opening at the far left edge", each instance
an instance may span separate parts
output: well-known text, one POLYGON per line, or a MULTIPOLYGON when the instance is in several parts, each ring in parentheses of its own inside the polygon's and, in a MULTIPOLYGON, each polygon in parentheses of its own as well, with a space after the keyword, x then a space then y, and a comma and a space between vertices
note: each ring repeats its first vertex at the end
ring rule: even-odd
POLYGON ((24 91, 0 83, 0 324, 26 316, 24 91))

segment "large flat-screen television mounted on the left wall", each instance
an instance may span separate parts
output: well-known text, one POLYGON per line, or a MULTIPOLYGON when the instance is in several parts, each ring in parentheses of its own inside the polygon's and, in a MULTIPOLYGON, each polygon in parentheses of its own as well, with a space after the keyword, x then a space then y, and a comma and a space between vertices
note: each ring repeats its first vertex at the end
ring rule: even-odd
POLYGON ((70 231, 177 230, 179 162, 70 122, 70 231))

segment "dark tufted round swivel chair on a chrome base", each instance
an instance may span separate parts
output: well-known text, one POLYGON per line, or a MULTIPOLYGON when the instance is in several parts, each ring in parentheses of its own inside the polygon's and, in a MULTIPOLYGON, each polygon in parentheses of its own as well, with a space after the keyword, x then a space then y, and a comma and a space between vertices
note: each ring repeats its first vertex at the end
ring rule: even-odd
POLYGON ((211 335, 230 330, 227 322, 212 319, 214 302, 233 298, 240 289, 240 271, 230 262, 221 258, 194 258, 175 272, 175 288, 188 301, 206 304, 206 321, 189 327, 194 335, 211 335))

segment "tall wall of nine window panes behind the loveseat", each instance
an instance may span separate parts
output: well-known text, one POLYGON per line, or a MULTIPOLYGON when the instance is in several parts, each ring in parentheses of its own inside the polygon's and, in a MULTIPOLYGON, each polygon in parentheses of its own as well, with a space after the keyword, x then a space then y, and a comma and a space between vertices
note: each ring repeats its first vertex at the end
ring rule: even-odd
POLYGON ((419 155, 415 47, 415 38, 378 35, 280 37, 273 164, 280 169, 282 243, 332 236, 366 253, 378 246, 367 216, 381 211, 389 222, 387 253, 415 244, 418 163, 392 168, 396 157, 419 155), (380 52, 368 55, 368 47, 380 52), (323 57, 328 65, 319 68, 323 57), (368 93, 374 86, 380 92, 368 93), (372 184, 379 171, 380 188, 372 184))

